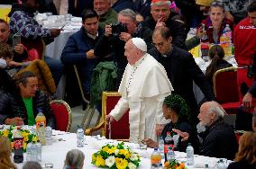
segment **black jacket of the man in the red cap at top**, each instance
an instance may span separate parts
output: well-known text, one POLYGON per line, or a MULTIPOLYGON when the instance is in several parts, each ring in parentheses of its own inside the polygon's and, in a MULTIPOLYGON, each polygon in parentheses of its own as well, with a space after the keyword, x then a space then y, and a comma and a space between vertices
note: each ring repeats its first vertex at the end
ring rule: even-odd
MULTIPOLYGON (((168 20, 165 22, 166 26, 169 28, 172 36, 172 43, 181 49, 186 49, 185 40, 187 38, 187 34, 185 32, 184 24, 181 22, 177 22, 172 20, 172 15, 169 15, 168 20)), ((152 33, 155 29, 156 23, 152 17, 149 17, 145 21, 141 22, 142 24, 142 32, 147 31, 149 33, 149 40, 146 41, 147 45, 151 44, 152 41, 152 33)))

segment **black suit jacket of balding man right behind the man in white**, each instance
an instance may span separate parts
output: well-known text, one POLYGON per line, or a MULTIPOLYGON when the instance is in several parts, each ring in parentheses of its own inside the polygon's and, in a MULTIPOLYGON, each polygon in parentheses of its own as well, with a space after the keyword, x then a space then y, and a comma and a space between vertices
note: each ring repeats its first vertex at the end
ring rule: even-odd
POLYGON ((185 99, 191 112, 194 113, 194 120, 197 120, 199 111, 197 101, 193 92, 193 81, 205 94, 207 101, 215 100, 215 93, 206 81, 206 77, 197 66, 193 56, 186 50, 173 46, 172 51, 164 58, 157 49, 151 49, 149 53, 156 58, 165 68, 169 80, 177 93, 185 99))

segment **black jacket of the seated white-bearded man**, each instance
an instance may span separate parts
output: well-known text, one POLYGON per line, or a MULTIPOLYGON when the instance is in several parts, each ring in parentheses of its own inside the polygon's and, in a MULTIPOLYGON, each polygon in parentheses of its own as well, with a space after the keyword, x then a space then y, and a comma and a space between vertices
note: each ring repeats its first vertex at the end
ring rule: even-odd
POLYGON ((238 150, 233 128, 223 119, 215 122, 199 136, 203 138, 203 146, 200 151, 202 156, 227 158, 233 160, 238 150))

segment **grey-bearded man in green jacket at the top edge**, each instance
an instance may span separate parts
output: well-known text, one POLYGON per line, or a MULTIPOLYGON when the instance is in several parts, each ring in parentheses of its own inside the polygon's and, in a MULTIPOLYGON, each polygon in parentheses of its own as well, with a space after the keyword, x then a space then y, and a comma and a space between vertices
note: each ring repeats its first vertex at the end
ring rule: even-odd
POLYGON ((111 0, 94 0, 94 10, 100 16, 100 28, 105 29, 106 24, 117 22, 117 13, 111 8, 111 0))

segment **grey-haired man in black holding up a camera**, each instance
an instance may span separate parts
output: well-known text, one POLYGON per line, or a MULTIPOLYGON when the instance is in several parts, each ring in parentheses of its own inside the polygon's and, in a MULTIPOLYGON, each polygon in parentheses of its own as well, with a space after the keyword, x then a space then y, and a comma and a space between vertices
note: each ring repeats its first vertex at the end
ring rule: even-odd
POLYGON ((139 31, 140 28, 137 27, 136 13, 131 9, 124 9, 118 13, 117 19, 118 22, 125 24, 127 29, 122 30, 118 34, 117 32, 113 32, 114 30, 111 25, 105 25, 105 34, 96 43, 95 55, 100 58, 107 55, 113 56, 114 63, 118 68, 117 84, 119 86, 124 68, 127 65, 127 59, 123 55, 125 42, 133 37, 140 37, 145 41, 151 41, 151 33, 150 31, 139 31))

